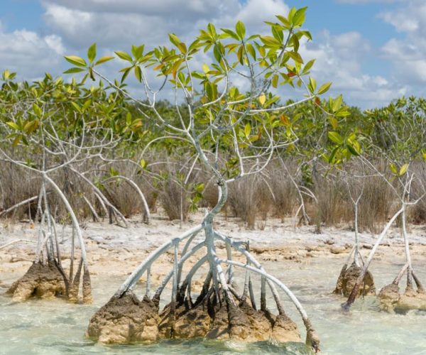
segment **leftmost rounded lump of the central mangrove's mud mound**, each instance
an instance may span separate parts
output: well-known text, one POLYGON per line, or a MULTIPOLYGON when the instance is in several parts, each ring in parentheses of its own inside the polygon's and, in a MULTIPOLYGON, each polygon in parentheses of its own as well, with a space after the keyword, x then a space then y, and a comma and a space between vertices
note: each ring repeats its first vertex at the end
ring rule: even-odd
POLYGON ((86 336, 103 344, 129 344, 158 340, 158 305, 133 293, 111 298, 90 319, 86 336))

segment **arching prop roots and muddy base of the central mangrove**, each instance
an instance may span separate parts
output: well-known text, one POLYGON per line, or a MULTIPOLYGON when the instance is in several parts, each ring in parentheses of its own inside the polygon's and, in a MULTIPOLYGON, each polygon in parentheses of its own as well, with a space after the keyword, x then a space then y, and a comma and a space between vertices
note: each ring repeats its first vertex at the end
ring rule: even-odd
POLYGON ((307 329, 307 346, 319 351, 320 340, 293 293, 280 280, 264 271, 261 264, 251 256, 245 243, 232 241, 229 237, 213 231, 211 224, 196 226, 153 251, 129 275, 109 302, 94 314, 86 334, 104 344, 191 338, 232 339, 242 342, 300 342, 297 326, 285 315, 275 286, 290 297, 300 312, 307 329), (190 246, 202 229, 206 232, 206 239, 190 246), (184 239, 187 239, 186 244, 179 253, 179 244, 184 239), (225 244, 226 259, 217 256, 214 239, 225 244), (165 275, 151 297, 151 266, 159 256, 171 248, 174 248, 173 268, 165 275), (200 257, 198 252, 202 249, 207 249, 207 253, 200 257), (244 256, 246 263, 233 261, 231 249, 244 256), (191 256, 197 258, 197 262, 184 277, 182 268, 191 256), (194 301, 191 296, 192 279, 203 265, 207 266, 208 272, 204 277, 200 295, 194 301), (234 283, 234 268, 240 268, 246 273, 241 290, 234 283), (133 288, 145 273, 146 294, 143 300, 139 300, 134 295, 133 288), (260 309, 256 307, 253 297, 253 274, 261 276, 260 309), (171 302, 160 311, 160 297, 170 281, 171 302), (278 315, 271 314, 266 307, 267 287, 273 295, 278 315))

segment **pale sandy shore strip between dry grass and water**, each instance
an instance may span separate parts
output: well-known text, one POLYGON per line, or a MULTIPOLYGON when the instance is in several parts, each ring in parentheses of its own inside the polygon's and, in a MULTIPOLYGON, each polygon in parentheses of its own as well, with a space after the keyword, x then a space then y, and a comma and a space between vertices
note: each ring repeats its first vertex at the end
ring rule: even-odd
MULTIPOLYGON (((143 224, 141 217, 129 220, 129 228, 105 222, 84 222, 83 236, 87 241, 92 278, 119 276, 123 280, 138 263, 141 263, 151 251, 200 223, 202 214, 197 214, 189 222, 180 225, 179 221, 170 222, 157 215, 151 224, 143 224)), ((278 219, 268 219, 262 230, 249 230, 238 219, 219 217, 215 229, 238 241, 250 241, 251 251, 258 261, 292 261, 308 263, 311 258, 332 258, 344 260, 351 250, 354 232, 348 227, 322 228, 322 234, 315 234, 314 226, 295 228, 291 221, 284 223, 278 219)), ((26 272, 34 258, 37 226, 28 222, 1 222, 0 247, 11 241, 25 239, 0 249, 0 282, 8 284, 26 272)), ((70 261, 70 227, 59 228, 64 266, 70 261)), ((422 265, 426 260, 426 226, 410 226, 410 244, 412 244, 413 263, 422 265)), ((197 237, 202 239, 202 236, 197 237)), ((360 240, 364 256, 367 256, 377 235, 361 233, 360 240)), ((219 246, 219 253, 224 250, 219 246)), ((201 254, 200 254, 201 255, 201 254)), ((154 280, 159 280, 168 271, 173 254, 170 253, 155 263, 154 280)), ((241 261, 243 259, 241 258, 241 261)), ((404 249, 400 229, 394 227, 376 254, 376 261, 403 263, 404 249)), ((190 267, 195 261, 188 263, 190 267)), ((337 271, 338 272, 338 271, 337 271)), ((273 271, 271 271, 273 273, 273 271)))

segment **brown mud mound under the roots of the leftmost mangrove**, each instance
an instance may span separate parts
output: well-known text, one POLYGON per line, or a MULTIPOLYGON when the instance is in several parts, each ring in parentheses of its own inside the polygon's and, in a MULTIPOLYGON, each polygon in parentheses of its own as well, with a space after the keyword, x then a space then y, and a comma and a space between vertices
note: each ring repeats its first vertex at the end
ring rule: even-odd
POLYGON ((12 295, 14 301, 25 301, 30 297, 65 297, 66 288, 57 266, 33 263, 6 293, 12 295))

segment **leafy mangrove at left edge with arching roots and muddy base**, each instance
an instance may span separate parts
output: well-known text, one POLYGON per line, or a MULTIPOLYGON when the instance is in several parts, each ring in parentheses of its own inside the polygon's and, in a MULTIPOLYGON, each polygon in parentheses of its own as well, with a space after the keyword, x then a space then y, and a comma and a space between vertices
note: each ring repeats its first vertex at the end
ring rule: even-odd
POLYGON ((31 202, 37 205, 35 216, 29 211, 30 219, 38 225, 33 265, 11 285, 8 293, 13 300, 61 296, 77 302, 81 284, 83 302, 92 302, 86 248, 70 196, 82 197, 94 212, 93 202, 82 192, 67 190, 72 190, 70 177, 77 177, 77 181, 89 185, 104 207, 107 205, 125 222, 104 194, 81 173, 81 165, 123 140, 113 133, 107 120, 122 113, 123 100, 110 97, 106 112, 103 102, 107 94, 102 87, 88 89, 83 87, 84 82, 65 83, 49 74, 31 85, 17 84, 13 77, 14 73, 8 71, 3 74, 1 100, 7 104, 1 109, 0 126, 7 135, 2 139, 0 159, 10 164, 11 169, 18 166, 31 172, 40 192, 1 212, 7 214, 31 202), (58 182, 60 178, 63 186, 58 182), (70 237, 65 239, 62 235, 62 241, 58 236, 58 219, 71 226, 70 237), (70 257, 67 271, 62 267, 65 253, 70 257))

